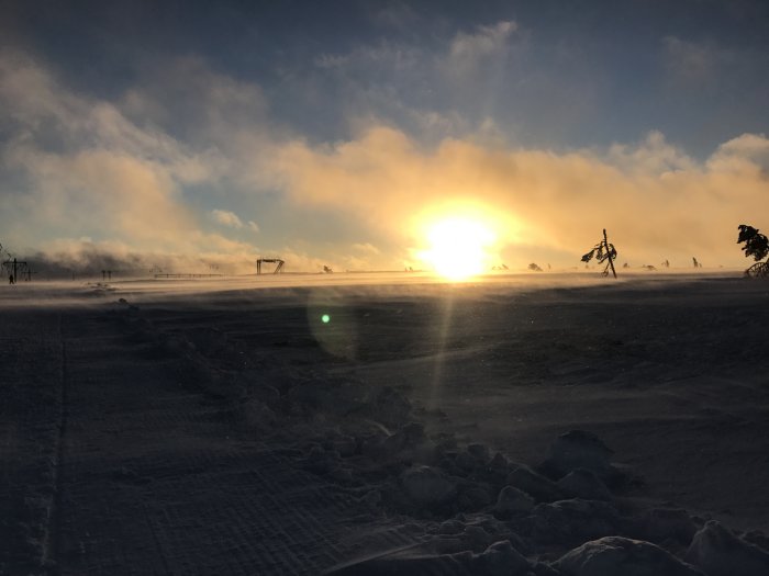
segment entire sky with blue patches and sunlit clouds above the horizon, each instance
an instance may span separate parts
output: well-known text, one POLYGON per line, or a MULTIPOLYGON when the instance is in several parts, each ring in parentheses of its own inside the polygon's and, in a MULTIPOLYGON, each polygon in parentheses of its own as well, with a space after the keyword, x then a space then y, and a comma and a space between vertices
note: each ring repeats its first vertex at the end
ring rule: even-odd
POLYGON ((483 267, 581 266, 603 228, 632 267, 747 266, 768 27, 762 0, 0 0, 0 242, 402 270, 448 223, 483 267))

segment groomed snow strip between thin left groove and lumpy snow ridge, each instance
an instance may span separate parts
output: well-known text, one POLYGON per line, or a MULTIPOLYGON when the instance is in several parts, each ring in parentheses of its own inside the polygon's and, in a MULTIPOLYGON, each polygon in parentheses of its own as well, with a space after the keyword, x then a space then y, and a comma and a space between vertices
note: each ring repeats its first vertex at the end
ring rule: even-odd
POLYGON ((62 574, 316 574, 356 551, 354 496, 244 437, 172 366, 126 354, 113 324, 68 320, 62 574))

